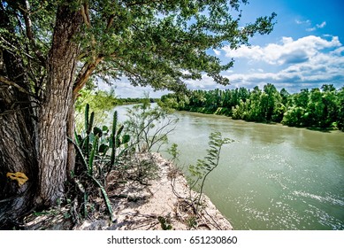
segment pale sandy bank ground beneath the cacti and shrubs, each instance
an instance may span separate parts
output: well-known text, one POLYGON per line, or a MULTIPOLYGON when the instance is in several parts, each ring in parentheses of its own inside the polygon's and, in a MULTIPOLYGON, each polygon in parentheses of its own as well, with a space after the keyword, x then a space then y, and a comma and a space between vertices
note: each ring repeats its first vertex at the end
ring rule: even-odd
POLYGON ((118 186, 115 172, 109 175, 107 188, 113 209, 112 221, 101 213, 94 213, 87 220, 73 224, 71 218, 65 218, 71 208, 65 207, 40 216, 28 216, 24 229, 233 229, 206 196, 196 216, 188 201, 195 192, 189 189, 185 177, 160 154, 152 154, 151 159, 157 165, 158 176, 147 184, 132 181, 118 186), (117 186, 113 187, 115 184, 117 186))

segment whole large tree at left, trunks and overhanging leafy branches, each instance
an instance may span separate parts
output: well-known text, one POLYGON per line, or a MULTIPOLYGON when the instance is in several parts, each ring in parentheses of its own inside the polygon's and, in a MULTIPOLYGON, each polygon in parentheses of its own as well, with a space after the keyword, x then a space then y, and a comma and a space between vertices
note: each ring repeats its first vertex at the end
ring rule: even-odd
POLYGON ((50 206, 73 171, 73 104, 90 78, 185 89, 208 74, 228 80, 208 49, 271 32, 275 14, 241 23, 247 0, 2 1, 0 4, 0 223, 50 206), (22 172, 18 186, 6 178, 22 172))

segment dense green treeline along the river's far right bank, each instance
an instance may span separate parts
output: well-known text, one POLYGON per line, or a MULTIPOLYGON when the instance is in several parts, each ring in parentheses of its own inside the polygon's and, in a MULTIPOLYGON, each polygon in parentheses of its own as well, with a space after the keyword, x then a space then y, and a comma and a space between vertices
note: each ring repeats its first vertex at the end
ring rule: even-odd
POLYGON ((264 89, 192 90, 161 97, 177 110, 215 113, 236 120, 279 122, 291 127, 338 128, 344 131, 344 87, 325 84, 289 94, 268 83, 264 89))

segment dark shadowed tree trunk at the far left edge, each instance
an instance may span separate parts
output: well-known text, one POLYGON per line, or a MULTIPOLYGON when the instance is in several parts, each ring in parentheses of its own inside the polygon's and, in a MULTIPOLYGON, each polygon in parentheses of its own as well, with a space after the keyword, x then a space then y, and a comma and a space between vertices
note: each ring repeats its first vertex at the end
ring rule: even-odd
POLYGON ((11 224, 32 207, 38 169, 28 97, 17 89, 2 87, 0 106, 1 227, 11 224), (18 182, 6 178, 8 172, 22 172, 29 180, 19 186, 18 182))

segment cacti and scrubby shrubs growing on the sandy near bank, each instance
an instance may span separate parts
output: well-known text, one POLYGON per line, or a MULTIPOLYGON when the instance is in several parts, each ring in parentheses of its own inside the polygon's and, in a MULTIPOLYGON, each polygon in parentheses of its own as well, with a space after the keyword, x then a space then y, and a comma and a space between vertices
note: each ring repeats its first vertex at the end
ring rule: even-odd
MULTIPOLYGON (((149 98, 145 98, 141 100, 140 105, 128 108, 126 114, 128 118, 123 124, 118 123, 118 112, 113 112, 111 127, 96 127, 95 112, 90 112, 88 104, 85 105, 83 112, 84 127, 80 133, 75 132, 74 139, 68 138, 75 146, 77 155, 75 170, 66 185, 65 198, 61 198, 59 205, 49 211, 35 212, 28 216, 25 223, 17 228, 82 229, 84 221, 96 222, 99 219, 108 219, 109 222, 103 223, 103 226, 98 226, 97 229, 113 228, 116 226, 114 223, 118 221, 113 209, 113 205, 116 205, 114 202, 122 198, 141 204, 149 201, 149 197, 135 197, 135 195, 141 190, 141 186, 149 187, 151 182, 159 177, 161 168, 151 152, 153 148, 158 151, 163 143, 167 143, 168 135, 172 134, 175 128, 178 120, 173 117, 171 110, 159 106, 152 107, 149 98), (114 193, 132 187, 127 185, 132 185, 133 182, 139 185, 131 189, 136 191, 134 195, 114 193), (35 221, 42 216, 46 218, 50 216, 50 221, 47 223, 46 218, 43 218, 43 221, 35 221), (58 218, 62 218, 62 221, 57 221, 58 218)), ((199 223, 202 223, 203 212, 207 207, 207 203, 203 200, 205 180, 218 166, 222 145, 230 142, 232 142, 230 139, 223 139, 220 133, 211 133, 208 155, 204 160, 198 160, 195 166, 189 166, 188 196, 182 197, 177 190, 174 190, 174 194, 182 203, 182 208, 178 211, 187 213, 183 221, 187 229, 198 229, 199 223)), ((175 143, 168 151, 172 161, 178 159, 179 151, 175 143)), ((181 174, 177 167, 172 167, 168 172, 171 185, 174 185, 177 174, 181 174)), ((159 224, 160 229, 175 229, 170 214, 150 216, 150 219, 152 218, 153 224, 148 225, 150 228, 159 224)))

